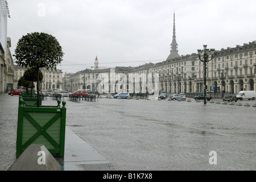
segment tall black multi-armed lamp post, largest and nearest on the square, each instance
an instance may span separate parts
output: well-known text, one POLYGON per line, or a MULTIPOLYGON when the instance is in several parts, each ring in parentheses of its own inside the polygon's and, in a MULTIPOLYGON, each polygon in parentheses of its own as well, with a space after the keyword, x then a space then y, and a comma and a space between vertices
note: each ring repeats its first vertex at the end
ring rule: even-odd
POLYGON ((211 60, 213 59, 213 55, 214 55, 214 51, 215 49, 207 49, 207 45, 203 45, 203 50, 201 49, 198 49, 198 57, 199 57, 199 60, 201 62, 203 62, 203 65, 204 65, 204 68, 205 68, 205 75, 204 75, 204 89, 203 89, 203 98, 204 98, 204 104, 206 104, 206 89, 207 89, 207 85, 206 85, 206 64, 211 60), (201 59, 201 54, 203 53, 203 57, 201 59), (209 59, 210 57, 210 59, 209 59))

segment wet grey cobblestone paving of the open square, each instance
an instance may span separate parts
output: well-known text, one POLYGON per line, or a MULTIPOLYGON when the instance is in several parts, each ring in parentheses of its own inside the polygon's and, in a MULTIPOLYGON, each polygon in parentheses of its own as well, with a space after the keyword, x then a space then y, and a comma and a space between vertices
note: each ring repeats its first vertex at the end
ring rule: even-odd
MULTIPOLYGON (((255 170, 256 101, 188 99, 65 98, 66 126, 118 170, 255 170), (217 164, 209 163, 210 151, 217 152, 217 164)), ((18 96, 0 95, 0 107, 0 170, 7 170, 15 161, 18 96)))

